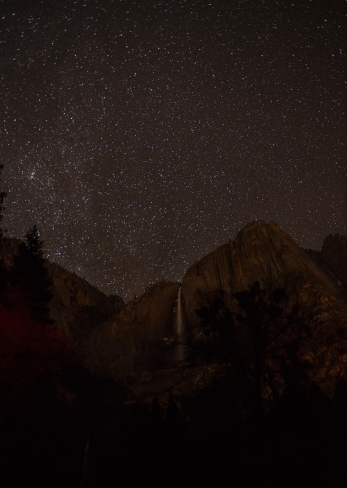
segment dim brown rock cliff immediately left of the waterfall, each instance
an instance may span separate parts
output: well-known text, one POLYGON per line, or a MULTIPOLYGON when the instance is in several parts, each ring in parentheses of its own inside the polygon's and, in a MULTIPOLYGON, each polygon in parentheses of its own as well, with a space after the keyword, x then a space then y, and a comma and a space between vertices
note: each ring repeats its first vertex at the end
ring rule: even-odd
POLYGON ((173 362, 178 283, 159 282, 102 323, 84 341, 85 364, 101 376, 134 383, 173 362))

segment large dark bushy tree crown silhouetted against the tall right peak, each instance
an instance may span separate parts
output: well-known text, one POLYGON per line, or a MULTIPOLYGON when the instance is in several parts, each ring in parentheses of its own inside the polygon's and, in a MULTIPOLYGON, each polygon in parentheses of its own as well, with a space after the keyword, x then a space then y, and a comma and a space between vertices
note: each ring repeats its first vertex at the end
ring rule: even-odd
POLYGON ((233 295, 232 307, 219 291, 197 314, 203 333, 192 340, 193 349, 207 363, 229 363, 252 395, 268 390, 276 401, 291 375, 304 372, 307 365, 298 358, 303 349, 309 352, 316 331, 304 310, 288 307, 284 289, 266 291, 255 282, 233 295))

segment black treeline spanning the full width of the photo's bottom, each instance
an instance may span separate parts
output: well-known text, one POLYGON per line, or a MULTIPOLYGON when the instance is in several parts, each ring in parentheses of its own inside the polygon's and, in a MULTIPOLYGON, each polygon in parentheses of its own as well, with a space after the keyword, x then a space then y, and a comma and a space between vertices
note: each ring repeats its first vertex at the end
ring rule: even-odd
POLYGON ((338 440, 347 430, 342 383, 338 402, 293 384, 273 409, 247 420, 226 414, 220 402, 231 392, 222 395, 215 385, 192 400, 188 421, 173 399, 164 407, 154 399, 151 408, 122 409, 121 387, 82 369, 63 375, 77 397, 70 406, 57 402, 48 381, 13 410, 1 452, 3 486, 345 485, 346 448, 338 440))

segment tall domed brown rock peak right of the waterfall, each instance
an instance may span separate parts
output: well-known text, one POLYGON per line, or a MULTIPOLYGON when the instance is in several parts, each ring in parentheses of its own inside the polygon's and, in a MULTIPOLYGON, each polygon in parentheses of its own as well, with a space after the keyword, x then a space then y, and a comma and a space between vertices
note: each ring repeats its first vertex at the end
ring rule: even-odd
MULTIPOLYGON (((330 239, 325 241, 322 254, 337 273, 344 258, 328 251, 330 243, 330 239)), ((344 240, 335 238, 334 243, 335 247, 342 243, 344 248, 344 240)), ((237 311, 234 293, 249 289, 254 282, 265 290, 284 289, 288 311, 294 305, 300 307, 310 337, 300 354, 311 357, 311 379, 332 394, 337 376, 347 377, 347 306, 339 295, 341 287, 274 222, 250 222, 235 241, 219 247, 187 271, 182 295, 192 333, 199 333, 201 319, 196 311, 205 307, 211 296, 222 291, 226 306, 237 311)))

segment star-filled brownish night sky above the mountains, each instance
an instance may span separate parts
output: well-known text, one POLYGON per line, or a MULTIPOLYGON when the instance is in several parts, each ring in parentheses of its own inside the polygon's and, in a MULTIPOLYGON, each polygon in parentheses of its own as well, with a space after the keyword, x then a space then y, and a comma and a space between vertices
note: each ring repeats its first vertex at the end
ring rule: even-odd
POLYGON ((346 234, 344 1, 0 8, 11 236, 128 299, 250 220, 346 234))

